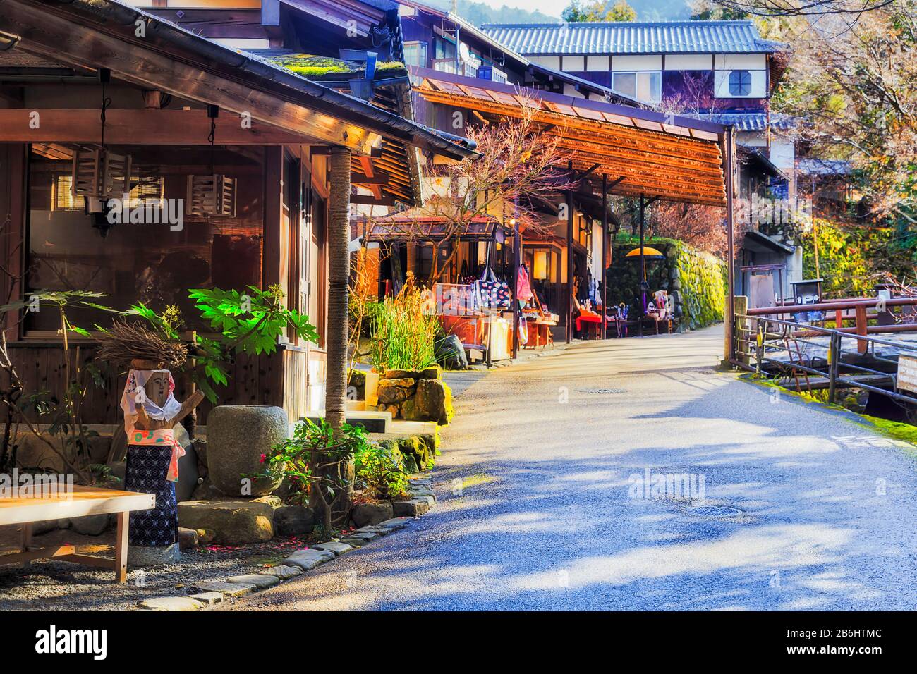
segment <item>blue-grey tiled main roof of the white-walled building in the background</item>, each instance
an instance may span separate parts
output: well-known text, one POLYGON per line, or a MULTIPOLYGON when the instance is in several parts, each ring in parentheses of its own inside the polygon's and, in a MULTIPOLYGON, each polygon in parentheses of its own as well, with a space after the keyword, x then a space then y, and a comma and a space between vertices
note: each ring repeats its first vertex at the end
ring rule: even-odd
POLYGON ((751 21, 484 24, 492 39, 520 54, 769 53, 784 45, 758 37, 751 21))

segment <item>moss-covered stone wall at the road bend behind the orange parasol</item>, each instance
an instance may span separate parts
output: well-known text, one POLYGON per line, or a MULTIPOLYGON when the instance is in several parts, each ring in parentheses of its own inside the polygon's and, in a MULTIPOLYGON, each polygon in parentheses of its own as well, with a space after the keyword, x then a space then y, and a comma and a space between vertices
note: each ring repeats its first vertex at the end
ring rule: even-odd
MULTIPOLYGON (((615 238, 608 270, 608 302, 624 302, 630 307, 631 317, 640 313, 640 259, 625 256, 639 245, 639 238, 615 238)), ((646 260, 647 295, 651 298, 657 290, 665 290, 672 296, 679 331, 712 326, 723 320, 723 260, 673 238, 649 238, 646 246, 665 254, 663 260, 646 260)))

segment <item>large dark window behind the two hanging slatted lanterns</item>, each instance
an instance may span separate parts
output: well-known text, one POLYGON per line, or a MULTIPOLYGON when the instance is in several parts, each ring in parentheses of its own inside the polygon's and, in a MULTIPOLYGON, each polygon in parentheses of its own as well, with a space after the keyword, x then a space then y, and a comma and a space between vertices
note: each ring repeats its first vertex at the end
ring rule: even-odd
MULTIPOLYGON (((131 155, 134 166, 142 169, 131 179, 136 182, 130 192, 132 207, 135 199, 137 204, 140 199, 164 200, 173 214, 183 213, 181 226, 156 221, 112 224, 102 214, 87 214, 83 197, 72 197, 70 191, 72 149, 61 147, 49 156, 32 146, 28 160, 28 290, 105 293, 99 304, 117 309, 143 302, 161 311, 175 304, 189 329, 205 330, 195 320, 200 312, 193 308, 189 289, 260 286, 262 150, 216 146, 215 170, 245 179, 238 183, 235 217, 205 218, 184 212, 184 201, 189 171, 209 171, 209 147, 111 149, 131 155)), ((71 314, 74 324, 86 328, 111 321, 110 315, 89 308, 73 309, 71 314)), ((28 312, 26 331, 55 335, 59 320, 50 311, 28 312)))

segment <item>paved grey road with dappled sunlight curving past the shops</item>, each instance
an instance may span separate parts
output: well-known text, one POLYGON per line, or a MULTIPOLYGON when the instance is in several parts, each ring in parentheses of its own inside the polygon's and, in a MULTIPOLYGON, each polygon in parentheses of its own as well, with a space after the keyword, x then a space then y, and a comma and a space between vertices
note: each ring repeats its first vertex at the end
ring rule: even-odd
POLYGON ((722 350, 711 328, 464 375, 435 511, 226 608, 917 608, 913 447, 722 350))

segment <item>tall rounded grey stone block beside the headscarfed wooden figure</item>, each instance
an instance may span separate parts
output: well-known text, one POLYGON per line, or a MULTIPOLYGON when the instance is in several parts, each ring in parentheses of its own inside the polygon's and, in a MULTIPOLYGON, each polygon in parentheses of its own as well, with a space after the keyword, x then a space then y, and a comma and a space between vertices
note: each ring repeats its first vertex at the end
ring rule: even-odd
POLYGON ((207 473, 215 487, 230 496, 260 496, 279 486, 264 470, 262 454, 289 432, 282 407, 219 405, 207 414, 207 473), (247 481, 246 478, 249 480, 247 481))

